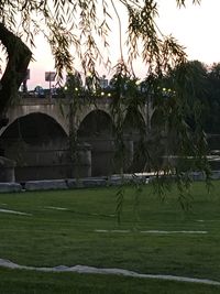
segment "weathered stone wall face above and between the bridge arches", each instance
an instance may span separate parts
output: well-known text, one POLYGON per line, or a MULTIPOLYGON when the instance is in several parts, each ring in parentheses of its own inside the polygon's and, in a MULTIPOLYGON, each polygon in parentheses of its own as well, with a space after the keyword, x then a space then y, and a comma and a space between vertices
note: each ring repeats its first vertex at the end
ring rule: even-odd
MULTIPOLYGON (((81 121, 92 111, 101 110, 106 112, 111 119, 111 101, 112 97, 91 97, 89 100, 86 97, 81 97, 81 107, 78 109, 75 118, 75 124, 78 129, 81 121)), ((124 98, 125 99, 125 98, 124 98)), ((13 123, 16 119, 31 113, 43 113, 53 118, 65 131, 66 134, 69 133, 69 105, 73 100, 68 97, 63 98, 56 96, 56 98, 37 98, 37 97, 21 97, 12 107, 9 108, 7 117, 9 118, 8 126, 0 130, 0 135, 6 131, 6 129, 13 123)), ((124 105, 125 109, 125 105, 124 105)), ((140 113, 143 119, 148 122, 153 113, 151 107, 147 106, 140 109, 140 113)), ((125 111, 124 111, 125 118, 125 111)))

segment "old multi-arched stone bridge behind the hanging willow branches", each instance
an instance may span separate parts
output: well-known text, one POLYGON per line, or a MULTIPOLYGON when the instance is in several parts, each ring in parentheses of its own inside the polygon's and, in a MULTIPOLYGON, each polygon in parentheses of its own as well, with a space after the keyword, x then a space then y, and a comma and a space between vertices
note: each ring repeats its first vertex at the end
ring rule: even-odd
MULTIPOLYGON (((74 174, 68 152, 69 109, 67 98, 21 98, 8 110, 9 123, 0 130, 0 155, 16 162, 16 181, 110 175, 117 172, 110 98, 99 98, 92 105, 85 101, 75 113, 79 164, 74 168, 74 174)), ((152 111, 146 106, 140 110, 140 116, 148 122, 152 111)), ((138 134, 125 111, 124 120, 129 168, 138 134)))

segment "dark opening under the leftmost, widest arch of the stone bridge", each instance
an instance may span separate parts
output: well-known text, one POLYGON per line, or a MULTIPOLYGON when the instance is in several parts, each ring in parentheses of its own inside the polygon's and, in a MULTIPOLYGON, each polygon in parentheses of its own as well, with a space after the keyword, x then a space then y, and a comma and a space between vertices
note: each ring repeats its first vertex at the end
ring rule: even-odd
POLYGON ((66 177, 68 137, 52 117, 30 113, 0 137, 1 155, 16 162, 16 181, 66 177))

